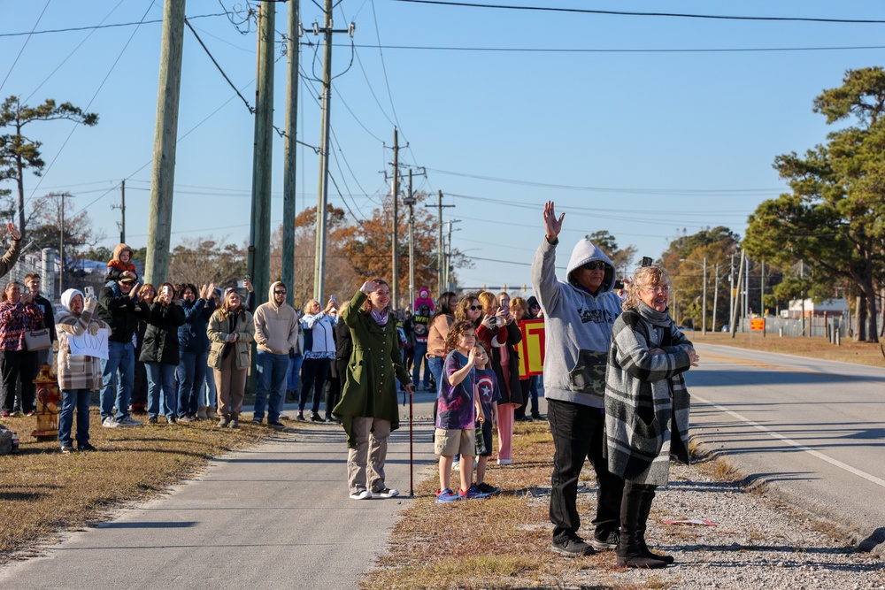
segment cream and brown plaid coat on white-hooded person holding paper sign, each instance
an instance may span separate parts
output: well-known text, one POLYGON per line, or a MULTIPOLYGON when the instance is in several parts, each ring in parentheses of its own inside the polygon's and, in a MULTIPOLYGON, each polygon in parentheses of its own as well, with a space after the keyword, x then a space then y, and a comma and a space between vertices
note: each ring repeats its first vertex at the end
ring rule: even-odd
POLYGON ((69 291, 73 291, 73 295, 81 295, 75 289, 69 289, 62 294, 62 303, 65 304, 65 310, 58 315, 56 322, 56 333, 58 335, 58 362, 56 364, 56 374, 58 376, 58 387, 65 391, 72 389, 91 389, 96 391, 102 388, 102 359, 97 356, 71 355, 71 343, 68 338, 73 336, 81 336, 87 333, 89 329, 96 330, 99 328, 107 328, 96 313, 98 301, 92 308, 84 308, 78 316, 70 310, 70 304, 73 295, 66 297, 69 291))

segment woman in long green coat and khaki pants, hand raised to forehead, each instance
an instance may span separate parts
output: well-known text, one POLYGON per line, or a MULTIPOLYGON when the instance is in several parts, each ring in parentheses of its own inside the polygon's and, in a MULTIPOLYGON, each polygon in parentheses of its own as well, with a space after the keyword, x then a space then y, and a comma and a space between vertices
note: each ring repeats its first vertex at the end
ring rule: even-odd
POLYGON ((341 312, 350 327, 353 352, 341 402, 333 414, 347 433, 347 479, 350 498, 392 498, 399 494, 384 483, 387 439, 399 428, 396 379, 414 393, 403 366, 396 318, 389 312, 390 287, 385 280, 366 281, 341 312), (371 476, 367 478, 366 460, 371 476))

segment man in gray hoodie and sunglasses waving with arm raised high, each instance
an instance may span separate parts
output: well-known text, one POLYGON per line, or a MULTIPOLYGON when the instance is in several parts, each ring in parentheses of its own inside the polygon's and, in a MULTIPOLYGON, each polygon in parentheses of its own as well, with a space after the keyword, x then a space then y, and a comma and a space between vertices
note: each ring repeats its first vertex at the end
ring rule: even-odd
POLYGON ((552 201, 544 204, 546 235, 532 263, 532 287, 545 320, 544 397, 555 454, 551 478, 550 549, 586 556, 618 545, 624 481, 608 471, 603 456, 605 364, 612 325, 620 315, 612 260, 593 242, 578 241, 566 281, 556 278, 556 249, 562 220, 552 201), (576 500, 584 460, 596 471, 595 531, 590 543, 578 536, 576 500))

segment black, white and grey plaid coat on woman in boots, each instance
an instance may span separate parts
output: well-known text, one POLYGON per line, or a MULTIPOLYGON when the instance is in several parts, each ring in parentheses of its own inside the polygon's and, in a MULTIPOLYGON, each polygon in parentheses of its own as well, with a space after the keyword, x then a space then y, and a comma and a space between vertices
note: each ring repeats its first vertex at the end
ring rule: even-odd
POLYGON ((689 463, 690 398, 682 379, 691 366, 686 346, 691 342, 667 311, 640 302, 615 320, 605 373, 606 449, 613 474, 663 486, 671 453, 689 463), (651 355, 656 348, 666 354, 651 355))

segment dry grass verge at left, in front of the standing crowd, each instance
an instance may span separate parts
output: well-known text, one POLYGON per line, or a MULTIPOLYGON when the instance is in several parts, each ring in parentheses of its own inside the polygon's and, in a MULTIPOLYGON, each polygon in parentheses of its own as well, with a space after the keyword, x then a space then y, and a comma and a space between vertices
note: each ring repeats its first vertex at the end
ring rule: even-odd
POLYGON ((62 455, 57 440, 37 442, 36 418, 4 418, 19 433, 18 455, 0 456, 0 563, 35 548, 59 531, 89 525, 123 502, 162 492, 204 467, 211 457, 263 441, 267 428, 238 430, 201 420, 189 425, 103 428, 90 419, 95 453, 62 455))

